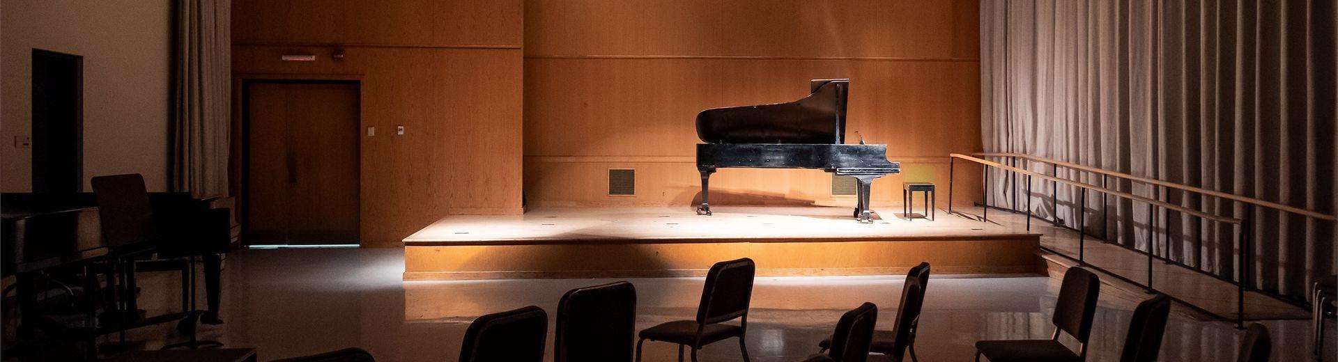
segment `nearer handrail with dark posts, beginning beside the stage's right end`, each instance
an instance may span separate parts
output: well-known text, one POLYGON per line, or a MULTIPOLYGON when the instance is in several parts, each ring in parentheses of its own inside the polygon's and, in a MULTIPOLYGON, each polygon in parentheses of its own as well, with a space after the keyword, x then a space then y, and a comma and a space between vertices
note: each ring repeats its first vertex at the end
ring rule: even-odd
MULTIPOLYGON (((977 155, 981 155, 981 156, 995 156, 995 155, 1002 155, 1002 154, 977 154, 977 155)), ((1012 156, 1012 155, 1009 155, 1009 156, 1012 156)), ((1002 163, 997 163, 997 162, 990 162, 990 160, 986 160, 986 159, 974 158, 974 156, 970 156, 970 155, 949 154, 949 174, 947 174, 949 175, 947 176, 949 178, 949 182, 947 182, 949 183, 949 186, 947 186, 947 214, 949 215, 953 214, 953 182, 954 182, 955 174, 957 174, 957 170, 955 170, 955 160, 957 159, 963 159, 963 160, 979 163, 981 167, 982 167, 982 170, 985 170, 985 171, 987 171, 989 167, 994 167, 994 168, 999 168, 1002 171, 1014 172, 1017 175, 1025 175, 1026 176, 1026 195, 1028 195, 1026 196, 1026 215, 1028 215, 1028 218, 1026 218, 1026 230, 1029 230, 1029 231, 1032 230, 1032 178, 1040 178, 1040 179, 1044 179, 1044 180, 1049 180, 1049 182, 1053 182, 1054 184, 1061 184, 1062 183, 1062 184, 1078 187, 1078 190, 1080 190, 1080 204, 1082 204, 1084 210, 1086 208, 1086 191, 1088 190, 1093 190, 1096 192, 1101 192, 1101 194, 1109 195, 1109 196, 1117 196, 1117 198, 1124 198, 1124 199, 1129 199, 1129 200, 1135 200, 1135 202, 1147 203, 1148 204, 1148 251, 1147 251, 1147 254, 1148 254, 1148 283, 1145 286, 1143 286, 1143 287, 1145 287, 1148 293, 1153 293, 1155 291, 1155 289, 1152 286, 1152 281, 1153 281, 1153 275, 1152 275, 1152 259, 1153 259, 1153 251, 1156 250, 1156 234, 1155 234, 1156 232, 1156 228, 1155 228, 1155 223, 1156 223, 1156 212, 1155 211, 1156 210, 1155 208, 1160 207, 1160 208, 1164 208, 1164 210, 1173 210, 1173 211, 1177 211, 1177 212, 1181 212, 1181 214, 1187 214, 1187 215, 1192 215, 1192 216, 1196 216, 1196 218, 1200 218, 1200 219, 1232 224, 1234 228, 1236 228, 1236 231, 1238 231, 1236 235, 1238 235, 1239 246, 1240 246, 1240 250, 1242 250, 1242 252, 1236 255, 1236 260, 1240 264, 1240 267, 1236 268, 1236 274, 1238 274, 1239 282, 1235 282, 1235 285, 1236 285, 1236 327, 1238 329, 1243 329, 1244 327, 1244 318, 1246 318, 1246 310, 1244 310, 1244 305, 1246 305, 1244 303, 1244 299, 1246 299, 1246 297, 1244 297, 1244 294, 1246 294, 1246 281, 1247 281, 1247 275, 1250 275, 1248 274, 1248 263, 1247 263, 1247 260, 1248 260, 1248 251, 1251 250, 1250 238, 1248 238, 1248 235, 1250 235, 1248 223, 1246 223, 1246 219, 1248 219, 1248 215, 1252 214, 1252 211, 1251 211, 1252 208, 1246 207, 1247 216, 1244 219, 1238 219, 1238 218, 1231 218, 1231 216, 1222 216, 1222 215, 1214 215, 1214 214, 1203 212, 1203 211, 1199 211, 1199 210, 1188 208, 1188 207, 1184 207, 1184 206, 1161 202, 1161 200, 1152 199, 1152 198, 1144 198, 1144 196, 1139 196, 1139 195, 1124 192, 1124 191, 1111 190, 1111 188, 1107 188, 1104 186, 1096 186, 1096 184, 1088 184, 1088 183, 1074 182, 1074 180, 1069 180, 1069 179, 1061 179, 1057 175, 1045 175, 1045 174, 1034 172, 1034 171, 1030 171, 1030 170, 1017 168, 1017 167, 1006 166, 1006 164, 1002 164, 1002 163)), ((1056 168, 1057 168, 1057 166, 1056 166, 1056 168)), ((990 206, 989 206, 989 183, 990 183, 990 178, 989 178, 989 172, 983 172, 983 174, 985 174, 983 175, 985 179, 983 179, 983 183, 982 183, 982 187, 981 187, 981 194, 982 194, 983 199, 981 202, 985 206, 985 208, 983 208, 983 212, 981 214, 981 220, 982 222, 989 222, 989 210, 990 210, 990 206)), ((1016 180, 1016 178, 1014 178, 1014 180, 1016 180)), ((1054 198, 1054 196, 1052 196, 1052 198, 1057 203, 1057 198, 1054 198)), ((1016 198, 1014 198, 1014 204, 1016 204, 1016 198)), ((1104 204, 1104 199, 1103 199, 1103 204, 1104 204)), ((1056 218, 1054 222, 1056 222, 1056 224, 1058 224, 1058 218, 1056 218)), ((1100 267, 1088 264, 1086 260, 1085 260, 1085 250, 1086 250, 1085 248, 1085 243, 1086 243, 1086 231, 1085 231, 1085 228, 1086 228, 1086 212, 1082 211, 1082 212, 1078 212, 1078 228, 1077 228, 1077 231, 1078 231, 1078 258, 1077 258, 1077 262, 1078 262, 1080 266, 1088 266, 1088 267, 1093 267, 1093 268, 1101 270, 1100 267)), ((1058 255, 1062 255, 1062 254, 1058 254, 1058 255)), ((1072 256, 1068 256, 1068 255, 1064 255, 1064 256, 1065 258, 1072 258, 1072 256)), ((1167 260, 1169 262, 1169 259, 1167 259, 1167 260)), ((1124 278, 1124 277, 1120 277, 1117 274, 1113 274, 1113 273, 1108 273, 1108 274, 1115 275, 1116 278, 1124 279, 1125 282, 1129 282, 1129 283, 1133 283, 1133 285, 1139 285, 1137 282, 1131 281, 1131 279, 1124 278)), ((1198 306, 1193 306, 1191 303, 1187 303, 1183 299, 1175 298, 1173 295, 1168 295, 1168 297, 1171 297, 1172 299, 1180 301, 1181 303, 1184 303, 1187 306, 1191 306, 1193 309, 1198 309, 1198 310, 1200 310, 1203 313, 1216 315, 1216 314, 1214 314, 1211 311, 1207 311, 1207 310, 1204 310, 1202 307, 1198 307, 1198 306)), ((1223 317, 1218 315, 1218 318, 1223 318, 1223 317)), ((1223 318, 1223 319, 1226 319, 1226 318, 1223 318)))

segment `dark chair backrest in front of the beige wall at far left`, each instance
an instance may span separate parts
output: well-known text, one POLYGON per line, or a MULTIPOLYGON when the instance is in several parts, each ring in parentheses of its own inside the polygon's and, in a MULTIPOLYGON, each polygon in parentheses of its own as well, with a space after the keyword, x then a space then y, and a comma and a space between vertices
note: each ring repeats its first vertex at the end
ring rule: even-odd
POLYGON ((92 178, 102 236, 110 247, 154 238, 154 208, 139 174, 92 178))

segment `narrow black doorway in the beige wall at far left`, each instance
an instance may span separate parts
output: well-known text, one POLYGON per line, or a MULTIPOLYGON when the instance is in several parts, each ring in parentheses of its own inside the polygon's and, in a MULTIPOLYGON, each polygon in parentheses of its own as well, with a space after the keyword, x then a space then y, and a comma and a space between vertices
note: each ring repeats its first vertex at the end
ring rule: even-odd
POLYGON ((32 49, 32 191, 83 191, 83 56, 32 49))

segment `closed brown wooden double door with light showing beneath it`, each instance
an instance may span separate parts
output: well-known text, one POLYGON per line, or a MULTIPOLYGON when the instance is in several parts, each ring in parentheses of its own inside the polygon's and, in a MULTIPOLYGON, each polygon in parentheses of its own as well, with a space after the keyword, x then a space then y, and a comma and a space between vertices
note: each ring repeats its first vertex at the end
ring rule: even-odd
POLYGON ((242 85, 242 222, 250 244, 357 244, 356 81, 242 85))

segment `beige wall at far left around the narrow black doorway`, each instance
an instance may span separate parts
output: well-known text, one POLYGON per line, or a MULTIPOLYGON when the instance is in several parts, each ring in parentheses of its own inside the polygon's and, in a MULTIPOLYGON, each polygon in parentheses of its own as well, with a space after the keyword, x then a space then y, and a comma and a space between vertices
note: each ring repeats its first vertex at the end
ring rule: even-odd
POLYGON ((84 190, 96 175, 167 187, 171 1, 0 1, 0 190, 32 188, 32 49, 83 56, 84 190))

